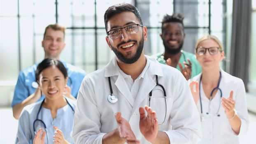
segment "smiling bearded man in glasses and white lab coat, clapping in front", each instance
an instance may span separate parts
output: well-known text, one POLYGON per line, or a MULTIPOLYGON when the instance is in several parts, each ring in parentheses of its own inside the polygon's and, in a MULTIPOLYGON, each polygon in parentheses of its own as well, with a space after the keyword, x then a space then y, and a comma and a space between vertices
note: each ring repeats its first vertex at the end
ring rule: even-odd
POLYGON ((147 28, 137 8, 114 5, 104 18, 106 41, 116 57, 81 84, 74 142, 198 143, 200 117, 187 81, 175 68, 144 55, 147 28))

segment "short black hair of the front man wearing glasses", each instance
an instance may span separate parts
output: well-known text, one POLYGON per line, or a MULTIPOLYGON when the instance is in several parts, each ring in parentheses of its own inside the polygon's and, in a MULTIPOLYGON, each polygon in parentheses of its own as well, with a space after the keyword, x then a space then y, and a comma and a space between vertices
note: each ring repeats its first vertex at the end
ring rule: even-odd
POLYGON ((120 14, 122 12, 133 12, 133 14, 135 14, 135 16, 137 17, 139 23, 143 25, 140 12, 135 6, 127 3, 117 4, 109 7, 104 14, 106 32, 107 32, 107 22, 109 21, 109 19, 115 14, 120 14))

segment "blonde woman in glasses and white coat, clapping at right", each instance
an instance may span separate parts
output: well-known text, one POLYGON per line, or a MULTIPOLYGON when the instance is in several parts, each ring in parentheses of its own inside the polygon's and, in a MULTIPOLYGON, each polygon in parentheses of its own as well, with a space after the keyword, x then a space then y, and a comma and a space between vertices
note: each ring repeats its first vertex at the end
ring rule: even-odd
POLYGON ((249 125, 244 83, 220 68, 225 56, 217 37, 198 39, 195 55, 202 72, 189 83, 201 115, 201 144, 239 144, 249 125))

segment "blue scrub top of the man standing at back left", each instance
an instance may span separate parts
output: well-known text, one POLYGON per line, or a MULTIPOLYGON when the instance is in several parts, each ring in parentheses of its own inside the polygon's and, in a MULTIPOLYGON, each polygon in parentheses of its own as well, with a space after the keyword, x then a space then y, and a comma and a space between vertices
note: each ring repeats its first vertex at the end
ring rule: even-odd
MULTIPOLYGON (((63 60, 61 60, 61 62, 67 69, 67 85, 70 86, 71 94, 74 96, 74 98, 77 98, 81 82, 84 79, 86 72, 79 67, 65 63, 63 60)), ((18 81, 14 90, 12 107, 21 103, 23 100, 28 98, 29 95, 35 93, 38 86, 37 82, 35 81, 35 71, 37 70, 38 64, 39 63, 36 63, 30 67, 27 67, 19 73, 18 81)), ((44 95, 42 95, 42 97, 37 101, 43 99, 44 95)))

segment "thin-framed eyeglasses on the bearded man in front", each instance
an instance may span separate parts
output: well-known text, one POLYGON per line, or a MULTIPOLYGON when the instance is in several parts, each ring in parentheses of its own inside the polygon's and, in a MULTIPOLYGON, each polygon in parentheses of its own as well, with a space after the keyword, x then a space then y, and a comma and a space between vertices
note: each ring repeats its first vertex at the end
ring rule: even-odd
MULTIPOLYGON (((139 26, 143 27, 141 24, 132 24, 132 25, 129 25, 129 26, 126 26, 123 28, 124 28, 124 30, 126 30, 126 33, 131 35, 131 34, 138 33, 139 26)), ((117 39, 121 36, 121 29, 123 29, 123 28, 116 28, 114 30, 109 30, 107 32, 107 35, 109 35, 109 37, 111 39, 117 39)))

